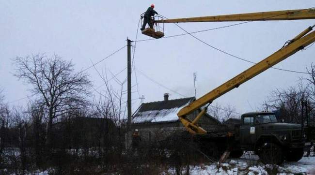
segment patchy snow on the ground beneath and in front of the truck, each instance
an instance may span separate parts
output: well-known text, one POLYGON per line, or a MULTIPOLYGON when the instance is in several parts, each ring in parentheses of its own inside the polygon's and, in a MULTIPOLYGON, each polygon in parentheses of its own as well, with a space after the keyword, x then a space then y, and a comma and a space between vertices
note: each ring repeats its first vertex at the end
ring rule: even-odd
MULTIPOLYGON (((243 155, 228 163, 190 166, 190 175, 315 175, 315 157, 303 157, 298 162, 284 162, 281 166, 264 165, 256 155, 243 155)), ((174 173, 169 170, 168 173, 174 173)), ((184 173, 184 172, 183 172, 184 173)))

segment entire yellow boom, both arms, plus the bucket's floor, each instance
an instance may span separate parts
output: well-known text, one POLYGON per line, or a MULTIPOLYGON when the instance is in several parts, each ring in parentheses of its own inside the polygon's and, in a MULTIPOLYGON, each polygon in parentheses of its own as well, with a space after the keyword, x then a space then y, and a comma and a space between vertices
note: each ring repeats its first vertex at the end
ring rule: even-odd
MULTIPOLYGON (((272 12, 258 12, 247 14, 234 14, 234 15, 216 15, 216 16, 202 16, 202 17, 189 17, 189 18, 177 18, 177 19, 162 19, 155 20, 154 23, 179 23, 179 22, 221 22, 221 21, 267 21, 267 20, 298 20, 298 19, 315 19, 315 9, 297 9, 297 10, 283 10, 272 12)), ((314 26, 313 26, 314 27, 314 26)), ((234 78, 225 82, 221 86, 213 89, 209 93, 205 94, 196 101, 190 103, 188 106, 182 108, 178 112, 178 117, 189 132, 193 134, 204 134, 206 131, 199 127, 196 122, 202 117, 206 108, 199 113, 199 115, 191 121, 186 116, 191 112, 201 108, 207 103, 211 103, 226 92, 238 87, 242 83, 250 80, 252 77, 264 72, 268 68, 298 52, 305 46, 315 41, 315 31, 309 33, 313 27, 309 27, 292 39, 286 46, 265 58, 264 60, 253 65, 246 71, 236 75, 234 78)), ((147 28, 142 30, 142 33, 154 38, 161 38, 164 33, 161 31, 155 31, 154 29, 147 28)))

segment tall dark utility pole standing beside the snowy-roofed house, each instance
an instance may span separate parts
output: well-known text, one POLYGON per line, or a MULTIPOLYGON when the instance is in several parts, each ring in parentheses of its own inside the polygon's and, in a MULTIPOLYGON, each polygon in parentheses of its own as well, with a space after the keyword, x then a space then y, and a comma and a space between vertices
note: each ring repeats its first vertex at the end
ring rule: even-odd
POLYGON ((127 38, 127 136, 126 148, 131 141, 131 40, 127 38))

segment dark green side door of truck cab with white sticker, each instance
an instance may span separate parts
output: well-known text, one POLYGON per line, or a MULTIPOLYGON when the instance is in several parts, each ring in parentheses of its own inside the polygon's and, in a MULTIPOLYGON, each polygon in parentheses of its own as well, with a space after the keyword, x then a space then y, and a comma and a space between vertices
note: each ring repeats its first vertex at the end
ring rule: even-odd
POLYGON ((254 116, 243 117, 242 125, 240 126, 240 138, 242 145, 255 143, 254 116))

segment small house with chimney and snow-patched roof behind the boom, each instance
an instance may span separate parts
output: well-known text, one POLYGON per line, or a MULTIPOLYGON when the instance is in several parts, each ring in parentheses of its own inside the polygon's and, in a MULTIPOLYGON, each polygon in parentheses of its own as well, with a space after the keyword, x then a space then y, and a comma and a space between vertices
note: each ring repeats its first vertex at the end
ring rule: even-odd
MULTIPOLYGON (((164 94, 164 101, 142 103, 132 115, 131 129, 138 129, 145 142, 162 141, 176 131, 185 131, 177 113, 195 100, 195 97, 169 100, 169 94, 164 94)), ((200 111, 199 109, 187 117, 194 119, 200 111)), ((221 127, 221 122, 207 113, 197 124, 206 131, 221 127)))

